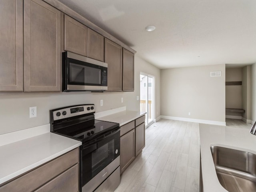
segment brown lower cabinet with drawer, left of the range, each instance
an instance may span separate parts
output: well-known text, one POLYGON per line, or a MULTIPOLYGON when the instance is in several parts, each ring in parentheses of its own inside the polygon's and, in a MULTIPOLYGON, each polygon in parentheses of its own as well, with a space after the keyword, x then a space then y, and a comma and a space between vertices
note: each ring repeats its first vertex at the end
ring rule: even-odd
POLYGON ((78 192, 78 148, 0 186, 0 192, 78 192))

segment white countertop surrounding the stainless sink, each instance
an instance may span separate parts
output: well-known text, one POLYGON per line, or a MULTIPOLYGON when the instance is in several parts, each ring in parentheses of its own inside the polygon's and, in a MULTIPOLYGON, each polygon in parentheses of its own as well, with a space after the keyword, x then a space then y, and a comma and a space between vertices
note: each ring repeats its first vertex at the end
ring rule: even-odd
POLYGON ((200 124, 202 181, 205 192, 227 192, 217 177, 210 146, 222 146, 256 154, 256 136, 248 128, 200 124))

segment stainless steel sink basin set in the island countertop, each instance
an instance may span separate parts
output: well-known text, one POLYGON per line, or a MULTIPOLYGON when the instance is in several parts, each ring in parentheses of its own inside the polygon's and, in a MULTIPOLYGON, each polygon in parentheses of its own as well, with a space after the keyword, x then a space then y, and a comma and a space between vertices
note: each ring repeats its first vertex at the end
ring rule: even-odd
POLYGON ((256 192, 256 155, 220 146, 211 146, 220 184, 229 192, 256 192))

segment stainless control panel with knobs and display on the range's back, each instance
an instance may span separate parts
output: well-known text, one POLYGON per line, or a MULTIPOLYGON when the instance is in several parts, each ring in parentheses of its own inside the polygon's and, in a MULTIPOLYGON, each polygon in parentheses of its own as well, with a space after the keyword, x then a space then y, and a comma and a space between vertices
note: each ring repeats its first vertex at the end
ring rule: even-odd
POLYGON ((53 120, 60 120, 64 118, 74 117, 78 115, 95 113, 94 104, 84 104, 84 105, 76 105, 69 106, 65 108, 58 108, 51 110, 53 120))

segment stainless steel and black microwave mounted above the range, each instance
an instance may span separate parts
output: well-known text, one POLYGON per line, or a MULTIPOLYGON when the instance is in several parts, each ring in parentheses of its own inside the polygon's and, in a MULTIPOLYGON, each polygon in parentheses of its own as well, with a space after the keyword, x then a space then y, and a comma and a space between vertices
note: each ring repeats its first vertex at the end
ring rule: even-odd
POLYGON ((108 89, 108 64, 72 52, 62 53, 62 91, 108 89))

